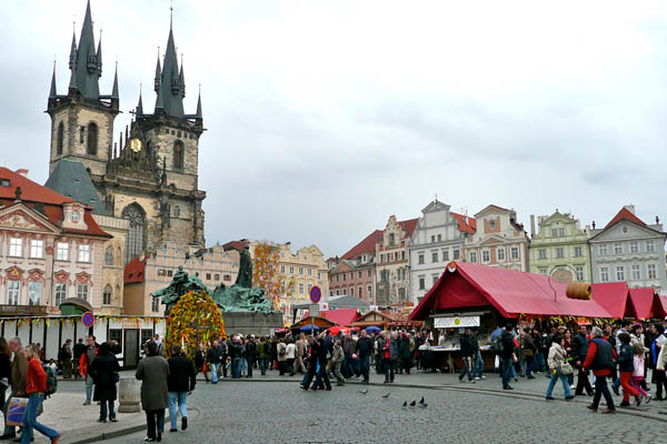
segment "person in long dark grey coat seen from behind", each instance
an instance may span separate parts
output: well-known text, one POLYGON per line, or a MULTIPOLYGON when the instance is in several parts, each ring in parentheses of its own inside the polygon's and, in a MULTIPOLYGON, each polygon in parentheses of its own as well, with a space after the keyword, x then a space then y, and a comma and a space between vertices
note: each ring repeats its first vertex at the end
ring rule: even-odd
POLYGON ((165 408, 169 406, 169 363, 158 354, 158 344, 155 342, 147 345, 146 352, 135 373, 135 377, 141 381, 141 407, 146 412, 148 428, 145 441, 160 442, 165 431, 165 408))

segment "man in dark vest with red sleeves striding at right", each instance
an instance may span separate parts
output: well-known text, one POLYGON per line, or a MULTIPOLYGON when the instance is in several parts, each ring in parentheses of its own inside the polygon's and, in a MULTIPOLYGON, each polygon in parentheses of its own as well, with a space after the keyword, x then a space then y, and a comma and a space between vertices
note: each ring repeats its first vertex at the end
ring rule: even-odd
POLYGON ((584 370, 593 370, 593 374, 595 375, 595 395, 593 396, 593 403, 587 407, 593 412, 597 412, 600 397, 605 396, 607 408, 603 413, 616 413, 614 397, 611 397, 611 393, 609 393, 609 387, 607 386, 607 376, 611 375, 611 370, 615 367, 614 349, 604 339, 600 327, 594 326, 591 334, 593 340, 588 343, 588 354, 584 362, 584 370))

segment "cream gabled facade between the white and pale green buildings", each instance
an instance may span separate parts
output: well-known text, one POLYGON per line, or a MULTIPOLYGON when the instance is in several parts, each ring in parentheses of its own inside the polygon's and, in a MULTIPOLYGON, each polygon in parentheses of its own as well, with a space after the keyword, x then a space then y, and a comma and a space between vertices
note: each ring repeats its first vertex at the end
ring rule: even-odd
POLYGON ((528 238, 514 210, 488 205, 475 219, 477 231, 464 244, 466 261, 528 271, 528 238))

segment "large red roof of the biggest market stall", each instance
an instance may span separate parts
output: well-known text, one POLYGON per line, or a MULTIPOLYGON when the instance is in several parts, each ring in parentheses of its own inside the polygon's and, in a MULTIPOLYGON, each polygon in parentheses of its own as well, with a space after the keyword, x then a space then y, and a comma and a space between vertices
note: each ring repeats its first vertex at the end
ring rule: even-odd
POLYGON ((596 301, 579 301, 565 295, 567 285, 541 274, 525 273, 466 262, 445 271, 438 282, 410 314, 422 321, 431 310, 495 306, 505 317, 520 314, 611 317, 596 301))

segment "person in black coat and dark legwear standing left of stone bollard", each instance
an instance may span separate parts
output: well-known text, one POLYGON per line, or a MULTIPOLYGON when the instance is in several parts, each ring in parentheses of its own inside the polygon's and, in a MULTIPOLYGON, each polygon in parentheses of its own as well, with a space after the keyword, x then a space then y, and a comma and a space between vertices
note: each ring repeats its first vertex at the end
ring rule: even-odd
POLYGON ((117 422, 113 402, 117 397, 116 383, 118 382, 118 372, 120 372, 120 365, 118 365, 118 360, 111 351, 111 344, 104 342, 100 345, 97 356, 88 369, 88 374, 94 383, 92 401, 100 402, 99 423, 107 422, 107 414, 109 415, 109 421, 112 423, 117 422))

